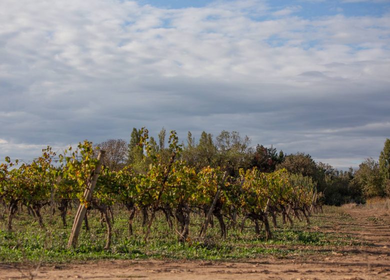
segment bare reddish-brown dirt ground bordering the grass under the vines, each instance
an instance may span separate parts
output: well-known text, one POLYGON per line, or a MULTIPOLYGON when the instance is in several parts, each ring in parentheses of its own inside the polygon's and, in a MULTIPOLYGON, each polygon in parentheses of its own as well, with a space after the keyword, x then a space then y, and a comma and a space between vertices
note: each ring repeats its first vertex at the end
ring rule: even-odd
POLYGON ((353 217, 335 229, 370 245, 343 246, 330 255, 314 253, 246 261, 113 260, 27 266, 0 264, 0 279, 390 279, 390 216, 385 210, 346 208, 353 217), (377 219, 376 219, 376 218, 377 219))

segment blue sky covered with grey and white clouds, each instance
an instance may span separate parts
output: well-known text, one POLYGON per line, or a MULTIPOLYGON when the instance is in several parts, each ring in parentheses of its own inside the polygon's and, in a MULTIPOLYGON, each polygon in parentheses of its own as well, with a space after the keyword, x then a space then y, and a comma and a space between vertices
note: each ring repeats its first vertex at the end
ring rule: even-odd
POLYGON ((389 108, 390 0, 0 1, 0 161, 146 126, 345 169, 389 108))

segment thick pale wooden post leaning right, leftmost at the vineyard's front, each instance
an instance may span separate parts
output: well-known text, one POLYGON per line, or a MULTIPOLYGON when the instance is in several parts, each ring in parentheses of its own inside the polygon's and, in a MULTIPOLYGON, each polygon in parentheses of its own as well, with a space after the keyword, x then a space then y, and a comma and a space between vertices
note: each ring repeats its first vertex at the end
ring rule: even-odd
MULTIPOLYGON (((84 194, 82 195, 82 197, 84 198, 84 201, 89 202, 91 197, 92 197, 92 192, 93 192, 93 189, 95 188, 95 185, 97 182, 97 177, 99 176, 100 166, 103 162, 104 153, 105 153, 104 150, 99 151, 99 155, 97 156, 97 160, 98 160, 97 165, 96 165, 95 169, 93 170, 91 179, 84 190, 84 194)), ((82 224, 82 221, 84 220, 85 212, 86 212, 85 204, 81 202, 80 205, 78 206, 76 216, 74 217, 72 231, 70 233, 69 241, 67 243, 68 249, 71 246, 75 247, 77 244, 77 237, 78 237, 78 234, 80 233, 81 224, 82 224)))

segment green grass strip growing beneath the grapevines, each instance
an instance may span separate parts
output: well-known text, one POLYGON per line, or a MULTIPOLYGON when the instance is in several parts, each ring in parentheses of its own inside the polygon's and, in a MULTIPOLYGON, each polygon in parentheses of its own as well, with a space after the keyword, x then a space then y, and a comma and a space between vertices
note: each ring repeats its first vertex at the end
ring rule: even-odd
MULTIPOLYGON (((40 229, 33 218, 19 214, 13 222, 14 230, 5 230, 4 222, 0 228, 0 262, 43 262, 61 263, 91 259, 205 259, 228 260, 247 259, 262 255, 286 257, 326 253, 340 245, 360 244, 348 233, 343 233, 342 224, 351 223, 351 217, 338 207, 324 207, 323 213, 313 214, 311 224, 294 221, 294 225, 282 225, 278 219, 278 228, 272 230, 273 238, 265 240, 263 233, 254 233, 254 224, 246 220, 243 232, 236 227, 228 230, 226 240, 220 237, 219 225, 207 230, 205 238, 198 238, 203 217, 192 215, 190 237, 184 244, 178 243, 175 231, 169 230, 164 216, 156 215, 148 242, 143 241, 144 228, 140 217, 133 223, 134 234, 127 232, 127 212, 114 209, 112 244, 104 250, 105 226, 100 224, 99 214, 92 211, 88 217, 91 230, 81 230, 75 249, 66 249, 75 209, 67 216, 68 226, 63 227, 60 218, 50 219, 44 212, 45 229, 40 229), (334 228, 337 224, 340 228, 334 228)), ((229 221, 226 220, 229 225, 229 221)), ((175 225, 177 226, 177 225, 175 225)))

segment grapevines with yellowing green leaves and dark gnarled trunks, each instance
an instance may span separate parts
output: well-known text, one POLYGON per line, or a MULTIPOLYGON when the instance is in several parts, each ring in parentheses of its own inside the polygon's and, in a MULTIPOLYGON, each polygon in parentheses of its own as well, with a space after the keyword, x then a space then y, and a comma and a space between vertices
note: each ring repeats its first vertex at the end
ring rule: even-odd
MULTIPOLYGON (((12 219, 20 205, 25 205, 41 227, 44 227, 42 207, 50 207, 53 213, 58 211, 66 226, 68 207, 79 201, 101 213, 107 226, 106 248, 111 241, 113 205, 122 205, 128 211, 128 234, 133 234, 135 213, 142 215, 145 240, 157 211, 165 214, 171 229, 176 220, 180 242, 189 236, 193 213, 205 217, 199 236, 204 236, 213 216, 224 238, 226 219, 236 226, 243 226, 245 219, 250 219, 255 232, 260 233, 263 228, 269 239, 272 232, 268 219, 273 226, 277 226, 277 215, 281 215, 283 223, 292 225, 294 218, 304 218, 309 223, 310 213, 321 206, 321 193, 316 192, 315 182, 300 174, 289 174, 285 169, 271 173, 241 169, 238 176, 230 176, 221 168, 196 170, 179 159, 181 147, 174 131, 169 136, 169 158, 152 151, 146 129, 142 129, 139 148, 150 161, 148 168, 136 173, 130 165, 118 171, 102 166, 88 201, 83 199, 83 191, 98 162, 91 142, 84 141, 76 149, 69 147, 61 154, 47 147, 28 164, 5 158, 6 162, 0 164, 0 200, 5 206, 2 218, 7 213, 8 230, 12 230, 12 219), (54 158, 58 160, 54 162, 54 158)), ((87 227, 86 216, 84 222, 87 227)))

